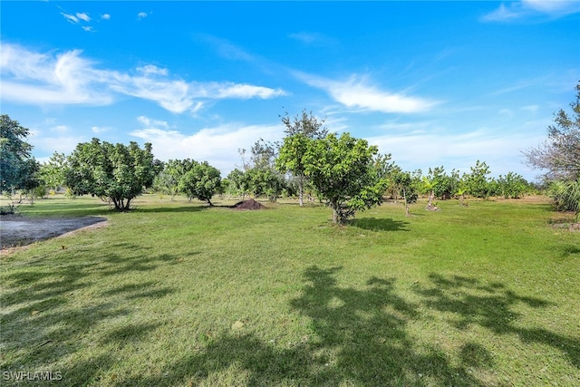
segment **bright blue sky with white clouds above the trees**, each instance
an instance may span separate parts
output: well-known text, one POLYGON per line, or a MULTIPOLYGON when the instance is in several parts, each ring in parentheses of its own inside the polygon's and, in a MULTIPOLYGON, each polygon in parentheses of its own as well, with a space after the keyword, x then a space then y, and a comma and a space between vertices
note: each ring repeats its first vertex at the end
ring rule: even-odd
POLYGON ((149 141, 208 162, 281 140, 304 109, 406 170, 534 179, 580 80, 580 2, 9 2, 1 111, 37 160, 77 143, 149 141))

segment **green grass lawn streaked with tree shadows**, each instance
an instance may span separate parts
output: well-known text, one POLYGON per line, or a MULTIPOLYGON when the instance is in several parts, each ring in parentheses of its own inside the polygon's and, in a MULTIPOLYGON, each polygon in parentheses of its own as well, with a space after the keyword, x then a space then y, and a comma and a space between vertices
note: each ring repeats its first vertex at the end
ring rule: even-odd
POLYGON ((109 222, 3 254, 0 383, 580 385, 580 233, 546 202, 266 205, 21 208, 109 222))

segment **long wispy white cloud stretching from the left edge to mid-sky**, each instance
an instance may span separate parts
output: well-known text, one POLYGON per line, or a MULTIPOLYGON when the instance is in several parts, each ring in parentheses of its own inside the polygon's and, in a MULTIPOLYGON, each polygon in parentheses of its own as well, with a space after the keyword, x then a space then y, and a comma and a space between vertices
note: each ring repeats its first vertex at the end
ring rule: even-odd
POLYGON ((3 44, 2 98, 29 104, 111 104, 116 94, 158 103, 168 111, 195 112, 208 100, 270 99, 285 95, 247 83, 186 82, 168 69, 148 64, 130 72, 98 69, 78 50, 54 55, 3 44))

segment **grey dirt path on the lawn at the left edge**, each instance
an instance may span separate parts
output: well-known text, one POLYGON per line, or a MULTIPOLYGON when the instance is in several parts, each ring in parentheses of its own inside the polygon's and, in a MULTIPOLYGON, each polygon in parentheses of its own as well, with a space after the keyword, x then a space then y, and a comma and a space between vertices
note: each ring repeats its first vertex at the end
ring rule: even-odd
MULTIPOLYGON (((0 218, 0 248, 30 245, 38 240, 59 237, 79 228, 105 222, 106 218, 0 218)), ((103 223, 104 224, 104 223, 103 223)))

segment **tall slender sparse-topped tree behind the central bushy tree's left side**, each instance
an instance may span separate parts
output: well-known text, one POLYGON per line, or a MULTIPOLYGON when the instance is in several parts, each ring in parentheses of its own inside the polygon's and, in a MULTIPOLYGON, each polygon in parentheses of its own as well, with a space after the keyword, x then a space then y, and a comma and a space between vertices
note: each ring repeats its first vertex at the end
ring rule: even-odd
POLYGON ((288 113, 281 117, 286 129, 286 137, 275 160, 276 169, 285 173, 290 171, 298 179, 298 202, 304 205, 304 155, 311 140, 324 139, 328 131, 324 128, 324 120, 318 121, 312 114, 302 111, 291 120, 288 113))

